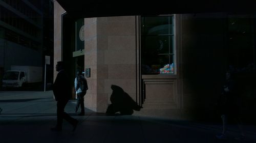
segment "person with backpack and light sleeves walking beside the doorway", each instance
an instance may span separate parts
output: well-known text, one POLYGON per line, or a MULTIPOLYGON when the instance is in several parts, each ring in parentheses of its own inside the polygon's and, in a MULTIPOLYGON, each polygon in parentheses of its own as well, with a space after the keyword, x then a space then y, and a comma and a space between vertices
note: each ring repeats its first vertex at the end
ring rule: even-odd
POLYGON ((76 101, 76 109, 77 112, 79 106, 81 107, 81 112, 78 113, 79 116, 84 116, 84 95, 88 90, 87 80, 80 71, 77 71, 75 78, 75 90, 77 94, 77 101, 76 101))

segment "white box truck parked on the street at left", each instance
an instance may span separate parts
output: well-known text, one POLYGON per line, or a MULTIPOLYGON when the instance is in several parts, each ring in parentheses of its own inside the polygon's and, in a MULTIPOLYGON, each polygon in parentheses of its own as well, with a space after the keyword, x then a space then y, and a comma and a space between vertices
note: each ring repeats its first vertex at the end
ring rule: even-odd
POLYGON ((19 88, 37 82, 42 82, 42 67, 11 66, 11 70, 4 73, 2 87, 19 88))

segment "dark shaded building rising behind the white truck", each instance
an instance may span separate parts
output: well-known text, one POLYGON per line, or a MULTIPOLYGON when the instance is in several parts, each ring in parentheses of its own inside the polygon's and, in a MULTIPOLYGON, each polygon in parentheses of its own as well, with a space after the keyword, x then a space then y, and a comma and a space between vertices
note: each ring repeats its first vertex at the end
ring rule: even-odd
POLYGON ((52 18, 52 1, 0 1, 1 81, 12 65, 44 67, 53 55, 52 18))

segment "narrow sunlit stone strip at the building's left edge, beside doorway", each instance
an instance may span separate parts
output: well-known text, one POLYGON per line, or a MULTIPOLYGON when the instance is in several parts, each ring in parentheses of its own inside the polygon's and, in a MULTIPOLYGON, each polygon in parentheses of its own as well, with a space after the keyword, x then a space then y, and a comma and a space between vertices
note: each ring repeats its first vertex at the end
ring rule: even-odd
MULTIPOLYGON (((61 61, 61 15, 65 13, 65 10, 54 1, 54 69, 58 61, 61 61)), ((54 70, 54 80, 57 76, 57 72, 54 70)))

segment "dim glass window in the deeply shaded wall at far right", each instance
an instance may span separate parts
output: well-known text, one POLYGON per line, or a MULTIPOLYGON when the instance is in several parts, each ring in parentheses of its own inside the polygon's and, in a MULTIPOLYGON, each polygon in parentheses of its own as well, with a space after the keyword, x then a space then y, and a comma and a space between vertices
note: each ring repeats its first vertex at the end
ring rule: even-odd
POLYGON ((242 69, 255 63, 253 15, 228 15, 228 62, 242 69))

